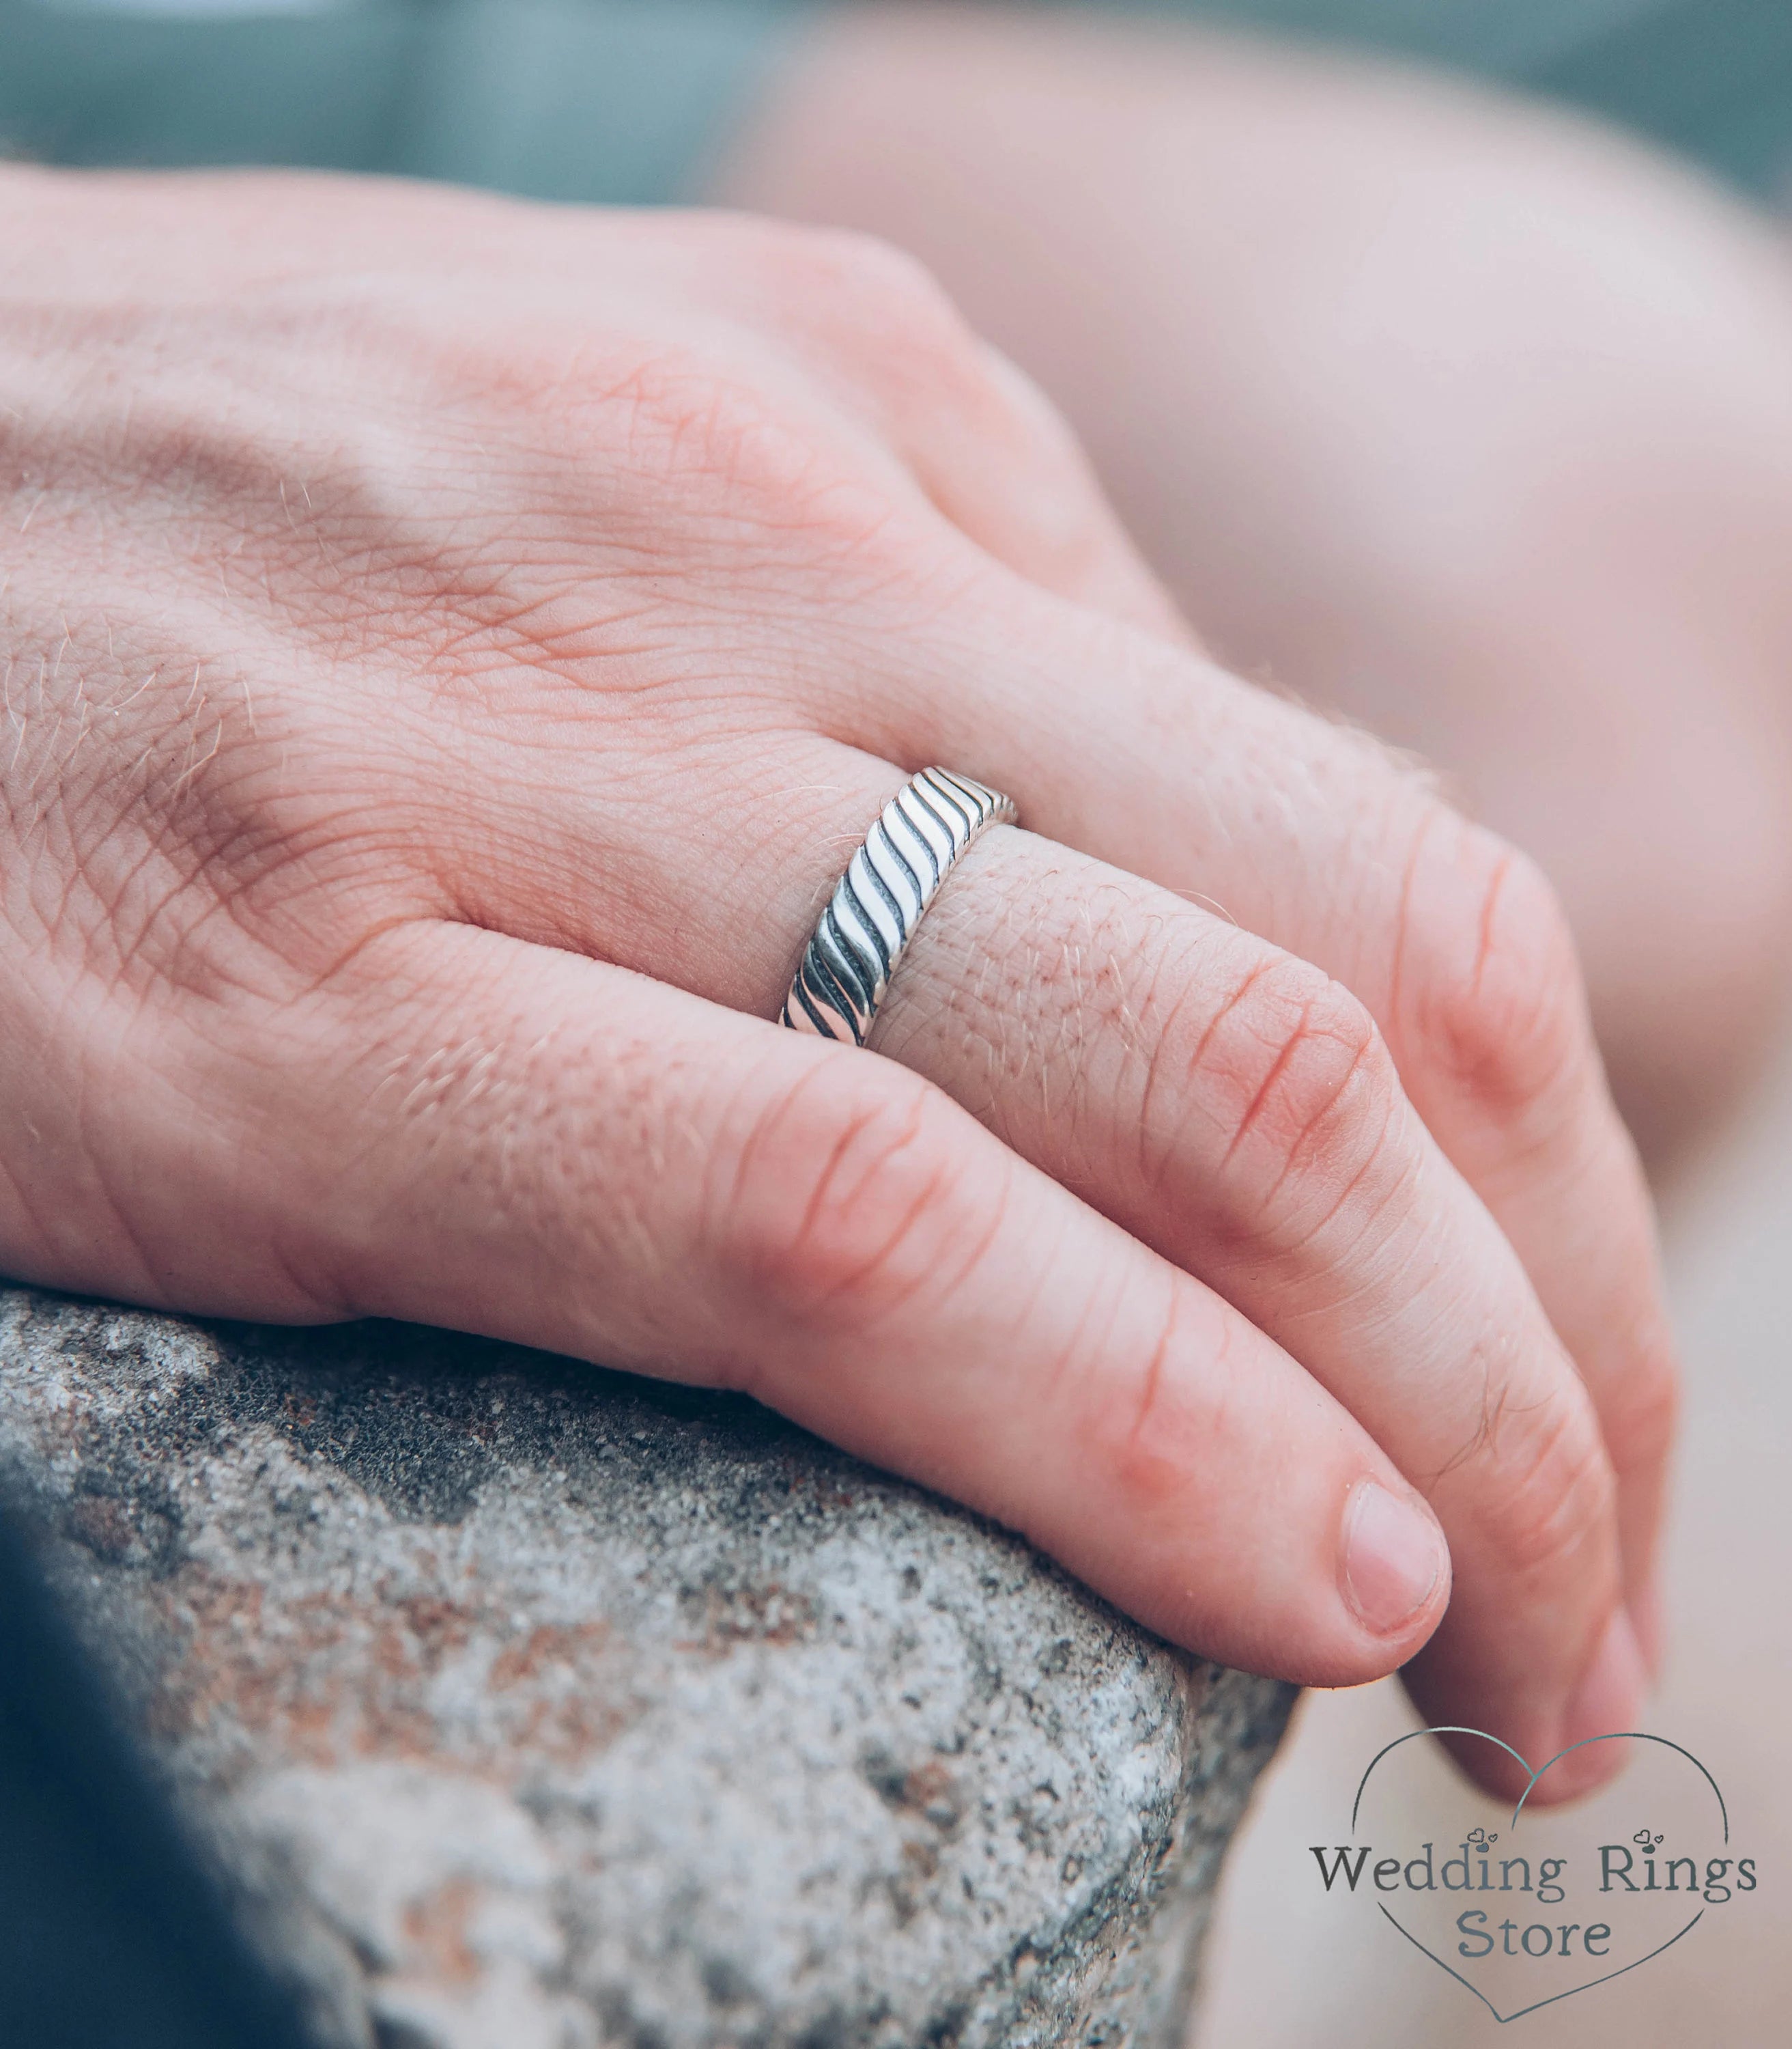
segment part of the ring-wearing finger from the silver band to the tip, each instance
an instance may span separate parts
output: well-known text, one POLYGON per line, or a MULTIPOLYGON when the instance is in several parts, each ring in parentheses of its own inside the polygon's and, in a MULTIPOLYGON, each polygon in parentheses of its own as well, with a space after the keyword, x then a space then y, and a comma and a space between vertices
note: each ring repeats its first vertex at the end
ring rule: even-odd
POLYGON ((1532 1758, 1630 1725, 1599 1420, 1356 998, 1137 877, 993 832, 870 1043, 1208 1281, 1425 1492, 1454 1561, 1413 1674, 1432 1719, 1532 1758))

